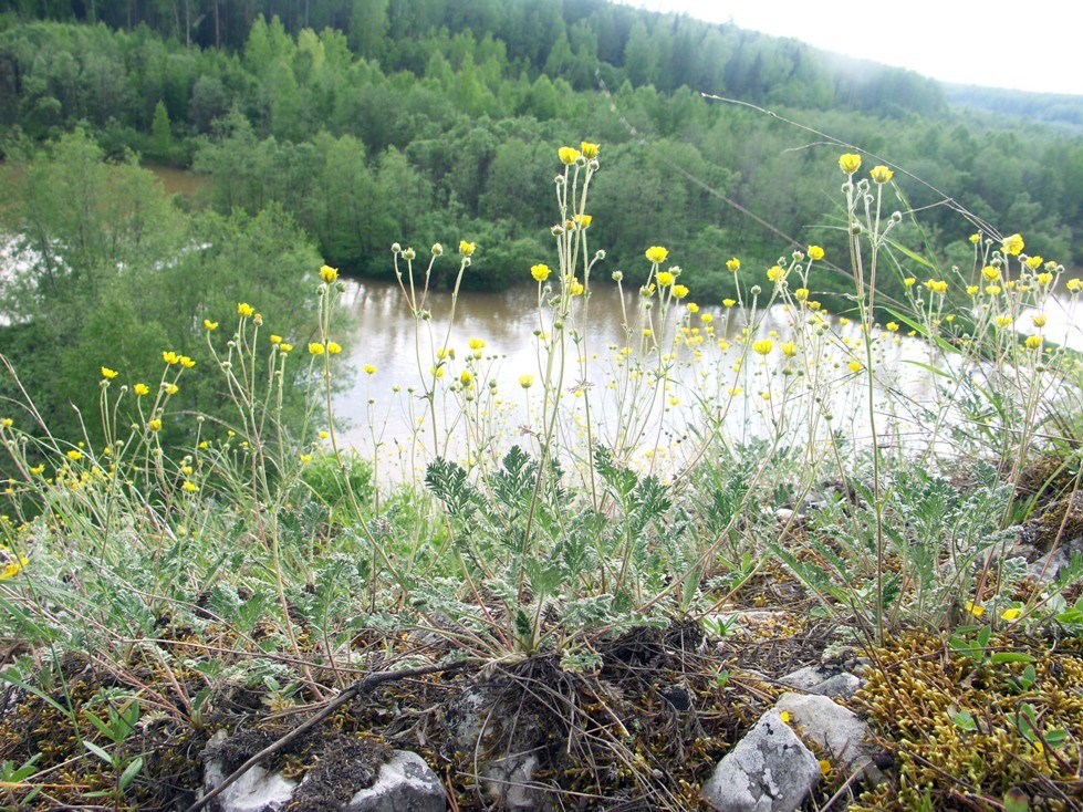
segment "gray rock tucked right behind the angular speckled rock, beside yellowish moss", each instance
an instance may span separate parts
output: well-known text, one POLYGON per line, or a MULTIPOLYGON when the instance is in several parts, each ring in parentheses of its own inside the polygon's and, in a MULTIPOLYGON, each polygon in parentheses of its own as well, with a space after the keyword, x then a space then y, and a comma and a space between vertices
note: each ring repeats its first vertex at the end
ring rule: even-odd
POLYGON ((783 694, 775 710, 788 710, 802 738, 819 746, 832 766, 844 771, 862 769, 865 777, 879 781, 883 773, 874 760, 878 749, 868 739, 868 728, 857 716, 825 696, 783 694))

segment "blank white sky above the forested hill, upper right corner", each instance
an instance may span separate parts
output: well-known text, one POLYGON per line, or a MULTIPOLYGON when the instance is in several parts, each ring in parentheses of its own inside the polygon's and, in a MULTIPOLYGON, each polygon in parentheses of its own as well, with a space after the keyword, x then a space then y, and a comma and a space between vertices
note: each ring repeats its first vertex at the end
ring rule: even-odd
POLYGON ((944 82, 1083 95, 1079 0, 621 0, 679 11, 944 82))

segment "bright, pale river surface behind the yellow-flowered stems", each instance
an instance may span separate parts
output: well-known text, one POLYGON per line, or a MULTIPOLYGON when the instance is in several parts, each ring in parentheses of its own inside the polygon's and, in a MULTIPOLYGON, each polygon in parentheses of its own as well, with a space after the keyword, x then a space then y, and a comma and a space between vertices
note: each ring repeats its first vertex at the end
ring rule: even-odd
MULTIPOLYGON (((584 344, 569 343, 558 427, 562 448, 581 450, 589 424, 595 439, 606 445, 634 445, 629 459, 636 465, 671 470, 696 452, 693 429, 707 417, 719 420, 733 443, 784 435, 788 443, 812 447, 833 433, 858 444, 868 441, 867 383, 854 366, 865 360, 856 324, 831 321, 818 329, 809 323, 808 312, 802 323, 782 306, 772 308, 752 336, 774 341, 772 351, 761 356, 741 335, 743 325, 736 311, 702 306, 699 313, 688 314, 678 305, 674 311, 684 321, 676 329, 683 326, 685 332, 678 332, 671 343, 676 320, 670 319, 665 329, 656 322, 663 348, 649 353, 639 348, 637 304, 637 295, 625 294, 622 308, 615 288, 598 287, 589 314, 577 305, 576 326, 587 337, 584 344), (624 326, 625 313, 631 332, 624 326), (800 347, 814 350, 808 357, 800 350, 793 357, 781 352, 782 342, 795 332, 804 332, 800 347), (622 355, 628 345, 632 352, 622 355), (652 385, 658 378, 664 383, 652 385)), ((543 329, 535 289, 460 295, 450 332, 447 292, 429 296, 425 306, 431 319, 418 325, 394 282, 351 281, 342 306, 356 317, 348 344, 355 376, 335 399, 336 418, 346 424, 342 433, 346 446, 366 456, 378 446, 381 460, 388 460, 381 462, 384 476, 407 476, 434 451, 459 458, 476 455, 481 438, 493 439, 486 449, 492 458, 516 443, 537 450, 546 356, 535 335, 543 329), (471 339, 486 342, 479 358, 472 357, 471 339), (452 347, 455 357, 446 360, 446 374, 437 382, 434 431, 434 414, 423 393, 444 346, 452 347), (375 366, 375 372, 365 374, 365 365, 375 366), (470 399, 455 385, 462 371, 472 375, 470 399), (534 386, 522 388, 522 375, 532 375, 534 386)), ((545 319, 548 323, 548 313, 545 319)), ((1065 330, 1074 325, 1069 312, 1063 320, 1051 314, 1050 326, 1054 321, 1063 322, 1065 330)), ((937 384, 943 384, 927 368, 927 346, 884 330, 876 330, 874 337, 878 437, 892 443, 926 441, 926 406, 937 396, 937 384)), ((1079 337, 1076 329, 1073 341, 1079 337)))

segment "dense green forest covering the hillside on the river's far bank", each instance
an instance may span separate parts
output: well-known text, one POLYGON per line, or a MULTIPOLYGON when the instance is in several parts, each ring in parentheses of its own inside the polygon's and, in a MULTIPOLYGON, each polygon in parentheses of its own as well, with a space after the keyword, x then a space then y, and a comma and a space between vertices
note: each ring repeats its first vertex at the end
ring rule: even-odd
POLYGON ((81 125, 111 159, 191 166, 215 211, 278 206, 347 272, 389 272, 395 240, 469 235, 516 246, 479 253, 471 284, 521 278, 502 263, 549 249, 553 149, 589 138, 604 145, 607 267, 665 240, 697 294, 721 294, 732 254, 832 243, 841 147, 819 133, 908 171, 892 205, 930 207, 930 248, 967 244, 964 209, 1074 259, 1077 132, 959 114, 931 80, 793 40, 603 0, 15 8, 0 18, 3 143, 81 125))

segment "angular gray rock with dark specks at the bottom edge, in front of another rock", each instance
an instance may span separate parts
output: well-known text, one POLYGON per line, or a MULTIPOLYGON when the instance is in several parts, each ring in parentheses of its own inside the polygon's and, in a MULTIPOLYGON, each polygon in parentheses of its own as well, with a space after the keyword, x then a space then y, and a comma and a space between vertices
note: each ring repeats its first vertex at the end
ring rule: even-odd
POLYGON ((702 795, 719 812, 793 812, 821 775, 816 757, 769 710, 718 762, 702 795))

